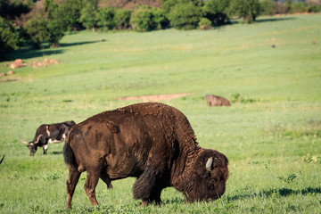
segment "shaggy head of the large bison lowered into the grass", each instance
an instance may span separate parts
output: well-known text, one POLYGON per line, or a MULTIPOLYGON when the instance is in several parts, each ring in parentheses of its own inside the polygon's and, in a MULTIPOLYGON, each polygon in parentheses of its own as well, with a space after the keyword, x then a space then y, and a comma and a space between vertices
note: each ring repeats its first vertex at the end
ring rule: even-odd
POLYGON ((202 149, 194 164, 185 190, 188 201, 216 200, 225 193, 228 177, 227 158, 215 150, 202 149))

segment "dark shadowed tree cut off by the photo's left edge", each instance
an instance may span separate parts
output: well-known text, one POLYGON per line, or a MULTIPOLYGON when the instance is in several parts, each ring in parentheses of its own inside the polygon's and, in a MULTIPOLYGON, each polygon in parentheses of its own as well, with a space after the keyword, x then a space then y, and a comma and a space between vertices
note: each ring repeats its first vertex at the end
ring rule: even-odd
POLYGON ((3 59, 5 53, 18 49, 18 33, 15 32, 9 21, 0 17, 0 59, 3 59))

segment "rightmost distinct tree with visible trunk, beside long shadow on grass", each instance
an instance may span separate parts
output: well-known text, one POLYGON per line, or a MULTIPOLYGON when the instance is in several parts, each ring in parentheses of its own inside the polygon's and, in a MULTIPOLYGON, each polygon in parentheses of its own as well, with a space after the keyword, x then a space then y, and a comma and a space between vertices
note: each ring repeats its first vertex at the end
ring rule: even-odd
POLYGON ((230 12, 240 16, 244 23, 251 23, 259 15, 259 0, 232 0, 230 12))

